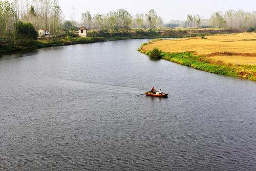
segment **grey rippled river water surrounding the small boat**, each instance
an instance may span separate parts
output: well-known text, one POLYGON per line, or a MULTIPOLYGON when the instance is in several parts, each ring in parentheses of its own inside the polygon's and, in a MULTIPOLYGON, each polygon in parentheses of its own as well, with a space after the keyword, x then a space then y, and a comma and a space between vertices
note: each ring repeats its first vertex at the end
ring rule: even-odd
POLYGON ((255 170, 255 82, 151 60, 146 41, 2 56, 0 170, 255 170), (152 86, 169 97, 136 96, 152 86))

